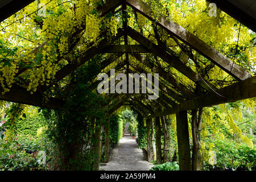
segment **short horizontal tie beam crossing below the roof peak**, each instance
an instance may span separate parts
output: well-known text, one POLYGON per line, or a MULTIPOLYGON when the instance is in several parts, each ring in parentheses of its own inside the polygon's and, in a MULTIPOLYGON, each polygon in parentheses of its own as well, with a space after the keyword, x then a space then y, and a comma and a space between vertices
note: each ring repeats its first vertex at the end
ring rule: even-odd
POLYGON ((112 45, 108 46, 102 53, 150 53, 141 45, 112 45))

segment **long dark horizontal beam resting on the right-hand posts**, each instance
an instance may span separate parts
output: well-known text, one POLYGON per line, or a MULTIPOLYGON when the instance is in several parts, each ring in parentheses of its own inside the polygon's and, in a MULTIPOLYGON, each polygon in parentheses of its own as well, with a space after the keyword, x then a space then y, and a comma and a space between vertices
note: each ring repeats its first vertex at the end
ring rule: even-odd
POLYGON ((201 107, 209 107, 227 102, 235 102, 247 98, 256 97, 255 88, 256 76, 247 78, 246 80, 237 82, 235 84, 217 90, 217 92, 224 97, 216 96, 216 94, 213 93, 205 94, 203 96, 193 98, 192 100, 184 101, 179 105, 172 106, 171 109, 167 109, 162 112, 152 114, 148 118, 155 118, 162 115, 175 114, 179 111, 193 110, 201 107))

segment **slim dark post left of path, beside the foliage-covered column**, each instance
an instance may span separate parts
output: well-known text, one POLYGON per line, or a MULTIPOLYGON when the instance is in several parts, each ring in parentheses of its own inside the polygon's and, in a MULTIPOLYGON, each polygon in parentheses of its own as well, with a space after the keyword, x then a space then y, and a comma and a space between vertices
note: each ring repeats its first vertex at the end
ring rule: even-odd
POLYGON ((101 139, 101 123, 100 119, 96 119, 95 123, 95 133, 94 133, 94 162, 93 162, 93 170, 98 171, 100 166, 100 139, 101 139))

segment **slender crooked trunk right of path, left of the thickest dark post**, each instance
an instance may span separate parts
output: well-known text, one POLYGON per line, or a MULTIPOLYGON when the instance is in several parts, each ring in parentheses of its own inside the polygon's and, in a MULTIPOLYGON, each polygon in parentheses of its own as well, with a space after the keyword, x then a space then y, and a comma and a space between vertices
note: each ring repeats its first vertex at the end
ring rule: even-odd
POLYGON ((169 154, 169 147, 170 147, 170 133, 168 131, 166 118, 164 116, 161 117, 163 131, 164 131, 164 152, 163 152, 163 162, 168 162, 168 154, 169 154))

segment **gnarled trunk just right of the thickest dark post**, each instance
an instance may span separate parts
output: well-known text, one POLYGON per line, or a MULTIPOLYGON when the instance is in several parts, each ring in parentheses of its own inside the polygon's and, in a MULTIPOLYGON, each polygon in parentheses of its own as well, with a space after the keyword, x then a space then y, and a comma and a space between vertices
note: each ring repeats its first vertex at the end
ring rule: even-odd
POLYGON ((192 110, 192 138, 193 138, 193 148, 192 148, 192 170, 200 171, 201 169, 201 152, 200 152, 200 130, 201 130, 201 118, 203 114, 203 108, 199 109, 199 114, 197 117, 197 110, 192 110))

